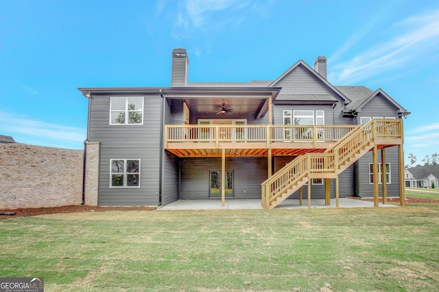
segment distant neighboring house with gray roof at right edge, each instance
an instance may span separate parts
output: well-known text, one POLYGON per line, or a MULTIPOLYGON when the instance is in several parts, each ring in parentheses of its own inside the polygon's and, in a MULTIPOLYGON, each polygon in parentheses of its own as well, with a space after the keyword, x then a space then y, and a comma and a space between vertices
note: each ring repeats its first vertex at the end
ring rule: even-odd
POLYGON ((424 165, 404 170, 406 187, 427 187, 438 189, 439 165, 424 165))

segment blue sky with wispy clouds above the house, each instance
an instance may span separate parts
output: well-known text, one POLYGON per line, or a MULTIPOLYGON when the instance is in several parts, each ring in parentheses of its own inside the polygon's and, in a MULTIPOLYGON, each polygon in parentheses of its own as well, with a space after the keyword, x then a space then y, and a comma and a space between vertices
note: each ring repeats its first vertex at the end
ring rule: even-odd
POLYGON ((178 47, 192 82, 274 80, 324 55, 333 85, 381 88, 412 112, 405 157, 439 152, 436 0, 3 0, 0 134, 81 149, 77 88, 169 86, 178 47))

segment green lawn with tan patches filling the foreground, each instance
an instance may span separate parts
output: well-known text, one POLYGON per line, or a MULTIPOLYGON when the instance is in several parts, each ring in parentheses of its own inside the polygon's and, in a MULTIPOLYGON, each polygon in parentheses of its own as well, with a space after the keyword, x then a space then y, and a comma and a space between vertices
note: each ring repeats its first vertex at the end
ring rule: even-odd
POLYGON ((0 238, 0 277, 45 291, 439 291, 439 204, 12 217, 0 238))

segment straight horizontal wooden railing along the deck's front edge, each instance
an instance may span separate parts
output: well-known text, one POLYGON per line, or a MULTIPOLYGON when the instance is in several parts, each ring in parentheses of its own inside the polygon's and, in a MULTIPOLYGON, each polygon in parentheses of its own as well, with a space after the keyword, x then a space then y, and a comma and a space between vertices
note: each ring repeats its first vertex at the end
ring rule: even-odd
POLYGON ((337 142, 356 125, 165 125, 165 146, 182 142, 337 142))

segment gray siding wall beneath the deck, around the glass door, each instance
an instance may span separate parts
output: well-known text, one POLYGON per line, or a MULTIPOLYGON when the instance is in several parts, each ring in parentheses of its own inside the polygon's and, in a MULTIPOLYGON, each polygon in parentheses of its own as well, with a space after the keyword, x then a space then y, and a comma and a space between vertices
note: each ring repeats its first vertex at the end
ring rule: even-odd
MULTIPOLYGON (((209 198, 209 170, 221 169, 221 157, 181 159, 180 164, 180 199, 209 198)), ((267 178, 266 157, 226 157, 226 169, 233 170, 235 176, 235 198, 261 198, 261 183, 267 178)))

